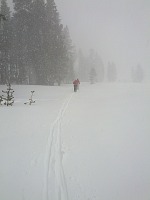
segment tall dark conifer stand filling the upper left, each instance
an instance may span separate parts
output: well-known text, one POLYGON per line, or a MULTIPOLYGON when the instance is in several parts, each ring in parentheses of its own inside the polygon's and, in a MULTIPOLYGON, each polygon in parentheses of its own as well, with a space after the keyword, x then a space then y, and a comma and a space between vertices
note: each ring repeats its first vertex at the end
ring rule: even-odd
POLYGON ((1 0, 0 84, 60 85, 74 77, 75 48, 54 0, 1 0))

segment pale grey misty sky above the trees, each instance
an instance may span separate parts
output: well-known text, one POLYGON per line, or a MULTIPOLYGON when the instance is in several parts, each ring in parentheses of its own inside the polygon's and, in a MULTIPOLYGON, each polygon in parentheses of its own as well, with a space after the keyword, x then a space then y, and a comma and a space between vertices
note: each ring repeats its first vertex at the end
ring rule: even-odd
POLYGON ((55 2, 77 48, 95 49, 123 73, 141 64, 150 75, 150 0, 55 2))

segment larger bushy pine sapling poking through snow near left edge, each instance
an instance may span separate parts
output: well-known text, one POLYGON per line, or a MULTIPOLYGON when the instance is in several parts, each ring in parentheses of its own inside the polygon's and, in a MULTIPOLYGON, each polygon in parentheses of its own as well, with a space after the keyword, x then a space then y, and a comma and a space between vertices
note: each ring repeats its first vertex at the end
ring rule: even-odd
POLYGON ((6 96, 2 95, 2 100, 4 101, 4 105, 6 106, 12 106, 14 103, 14 97, 13 97, 13 93, 14 90, 11 88, 10 83, 7 85, 7 91, 3 91, 2 92, 4 94, 6 94, 6 96))

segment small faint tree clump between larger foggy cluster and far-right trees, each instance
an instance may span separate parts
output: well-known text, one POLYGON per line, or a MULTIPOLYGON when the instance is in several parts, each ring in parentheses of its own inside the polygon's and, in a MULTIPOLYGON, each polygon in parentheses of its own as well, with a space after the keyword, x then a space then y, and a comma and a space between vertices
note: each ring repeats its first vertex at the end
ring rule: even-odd
POLYGON ((107 78, 109 82, 114 82, 117 80, 117 69, 114 63, 108 63, 107 78))

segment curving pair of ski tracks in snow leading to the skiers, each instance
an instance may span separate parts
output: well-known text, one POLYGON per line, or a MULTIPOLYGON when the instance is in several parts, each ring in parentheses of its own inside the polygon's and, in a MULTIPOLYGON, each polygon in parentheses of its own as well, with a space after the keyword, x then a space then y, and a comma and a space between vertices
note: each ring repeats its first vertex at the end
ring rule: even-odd
POLYGON ((56 120, 51 125, 45 154, 43 200, 68 200, 67 184, 62 164, 61 124, 73 94, 66 98, 56 120))

